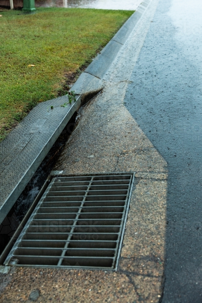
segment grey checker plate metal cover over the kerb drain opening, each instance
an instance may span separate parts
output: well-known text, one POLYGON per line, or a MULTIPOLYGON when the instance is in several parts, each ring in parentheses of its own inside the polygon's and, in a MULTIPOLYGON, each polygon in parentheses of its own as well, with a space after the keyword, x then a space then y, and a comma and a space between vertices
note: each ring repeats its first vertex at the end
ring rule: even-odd
POLYGON ((80 96, 61 107, 67 102, 62 96, 39 103, 0 143, 0 223, 81 105, 80 96))

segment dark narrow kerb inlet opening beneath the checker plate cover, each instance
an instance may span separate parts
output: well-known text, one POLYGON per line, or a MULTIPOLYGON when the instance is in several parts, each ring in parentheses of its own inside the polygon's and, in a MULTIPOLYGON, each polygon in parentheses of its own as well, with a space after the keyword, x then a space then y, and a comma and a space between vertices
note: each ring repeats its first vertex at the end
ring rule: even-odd
MULTIPOLYGON (((25 187, 22 194, 19 196, 11 210, 8 212, 8 215, 0 224, 0 255, 5 249, 8 242, 11 240, 16 229, 21 224, 24 219, 27 211, 34 202, 36 196, 38 195, 41 187, 44 185, 45 180, 48 178, 52 168, 55 165, 55 162, 58 159, 65 143, 68 141, 69 136, 75 129, 78 123, 77 112, 73 114, 68 124, 65 126, 61 135, 58 137, 45 159, 42 161, 41 165, 36 170, 35 174, 28 182, 28 185, 25 187)), ((3 261, 0 263, 2 264, 3 261)))

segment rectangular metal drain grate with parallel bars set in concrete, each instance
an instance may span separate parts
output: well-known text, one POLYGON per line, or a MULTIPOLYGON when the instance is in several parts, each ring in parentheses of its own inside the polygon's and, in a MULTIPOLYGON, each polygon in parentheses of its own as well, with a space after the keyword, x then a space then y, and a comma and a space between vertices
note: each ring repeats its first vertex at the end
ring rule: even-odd
POLYGON ((116 270, 134 173, 53 175, 4 265, 116 270))

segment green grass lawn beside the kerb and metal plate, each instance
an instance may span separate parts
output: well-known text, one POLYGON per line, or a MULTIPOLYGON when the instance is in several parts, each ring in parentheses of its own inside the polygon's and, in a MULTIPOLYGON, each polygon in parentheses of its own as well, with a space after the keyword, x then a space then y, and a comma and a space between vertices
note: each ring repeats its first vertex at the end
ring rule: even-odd
POLYGON ((0 141, 38 102, 61 94, 68 76, 91 62, 132 13, 83 8, 1 12, 0 141))

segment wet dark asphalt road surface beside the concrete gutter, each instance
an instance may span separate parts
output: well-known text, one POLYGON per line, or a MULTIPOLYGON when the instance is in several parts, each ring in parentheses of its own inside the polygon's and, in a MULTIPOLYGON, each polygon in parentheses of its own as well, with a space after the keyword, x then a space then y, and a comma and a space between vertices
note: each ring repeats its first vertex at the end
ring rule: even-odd
POLYGON ((168 163, 163 303, 202 302, 202 2, 160 0, 126 107, 168 163))

